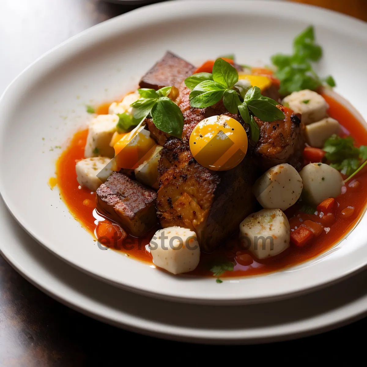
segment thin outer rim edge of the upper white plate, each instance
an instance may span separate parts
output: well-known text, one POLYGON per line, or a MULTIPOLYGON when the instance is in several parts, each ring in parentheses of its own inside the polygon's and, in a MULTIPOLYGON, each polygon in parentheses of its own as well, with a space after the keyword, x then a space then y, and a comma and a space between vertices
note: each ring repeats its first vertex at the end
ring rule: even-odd
MULTIPOLYGON (((236 0, 232 0, 230 1, 231 3, 235 4, 237 1, 236 0)), ((199 1, 197 3, 202 3, 202 4, 205 4, 206 1, 199 1)), ((247 0, 246 1, 247 4, 257 4, 258 5, 258 1, 254 1, 254 0, 247 0)), ((305 6, 304 4, 298 4, 298 3, 285 3, 283 1, 262 1, 263 4, 265 3, 268 3, 269 5, 272 4, 274 6, 274 4, 276 4, 277 6, 280 6, 280 7, 293 7, 293 8, 310 8, 312 9, 312 12, 318 12, 319 14, 328 14, 329 16, 332 16, 332 17, 337 17, 339 19, 344 19, 344 21, 348 21, 348 22, 351 22, 353 23, 354 25, 356 23, 358 23, 360 26, 362 26, 364 29, 367 30, 367 23, 363 22, 363 21, 360 21, 359 19, 355 19, 355 18, 352 18, 352 17, 349 17, 347 15, 344 15, 344 14, 339 14, 337 12, 334 12, 334 11, 330 11, 330 10, 326 10, 326 9, 322 9, 322 8, 319 8, 319 7, 314 7, 314 6, 305 6)), ((12 83, 10 83, 10 85, 6 88, 6 90, 3 92, 3 94, 1 95, 1 98, 0 98, 0 106, 1 106, 1 102, 3 101, 4 99, 4 96, 6 96, 6 94, 9 92, 9 90, 11 90, 12 86, 19 80, 22 78, 23 75, 25 75, 28 70, 32 69, 34 67, 34 65, 37 65, 39 62, 41 62, 42 60, 47 60, 47 57, 48 55, 52 55, 54 51, 56 50, 59 50, 61 49, 62 47, 65 47, 67 46, 69 43, 72 43, 74 40, 77 40, 77 39, 85 39, 88 34, 92 34, 93 32, 96 33, 96 31, 99 29, 99 28, 107 28, 108 25, 110 28, 112 28, 113 30, 113 24, 120 22, 121 21, 121 18, 128 18, 128 17, 132 17, 134 14, 138 15, 139 13, 142 13, 142 12, 149 12, 150 9, 152 8, 155 8, 155 9, 165 9, 167 7, 171 7, 174 5, 174 7, 177 7, 177 4, 182 4, 182 5, 186 5, 186 4, 190 4, 190 0, 175 0, 175 1, 168 1, 168 2, 164 2, 164 3, 157 3, 157 4, 152 4, 152 5, 148 5, 146 7, 142 7, 142 8, 138 8, 136 10, 133 10, 131 12, 128 12, 126 14, 122 14, 116 18, 112 18, 112 19, 109 19, 108 21, 105 21, 105 22, 102 22, 98 25, 95 25, 87 30, 84 30, 83 32, 71 37, 70 39, 62 42, 61 44, 59 44, 58 46, 52 48, 50 51, 46 52, 45 54, 43 54, 41 57, 37 58, 36 61, 34 61, 32 64, 30 64, 25 70, 23 70, 22 73, 20 73, 13 81, 12 83)), ((222 6, 222 2, 220 0, 214 0, 212 1, 212 4, 216 4, 215 6, 217 7, 215 10, 219 10, 219 8, 222 6), (219 6, 220 4, 220 6, 219 6)), ((116 29, 119 29, 119 27, 116 27, 116 29)), ((112 32, 112 30, 109 31, 109 33, 112 32)), ((115 32, 117 32, 117 30, 115 30, 115 32)), ((367 33, 367 32, 366 32, 367 33)), ((91 41, 91 37, 90 37, 90 41, 89 43, 90 44, 93 44, 95 41, 91 41)), ((88 46, 85 46, 85 48, 89 47, 90 45, 88 44, 88 46)), ((0 110, 0 113, 1 113, 1 110, 0 110)), ((189 297, 180 297, 178 295, 171 295, 171 294, 165 294, 165 293, 157 293, 157 292, 150 292, 148 289, 142 289, 142 288, 137 288, 137 287, 134 287, 134 286, 130 286, 130 285, 126 285, 126 284, 121 284, 121 283, 116 283, 114 281, 111 281, 110 279, 106 279, 106 278, 103 278, 101 276, 99 276, 98 274, 94 273, 94 272, 90 272, 88 271, 87 269, 83 269, 83 268, 80 268, 80 266, 78 266, 77 264, 73 264, 72 262, 68 261, 68 259, 65 259, 64 257, 60 256, 57 252, 51 250, 50 247, 47 246, 47 244, 44 244, 39 236, 37 236, 36 233, 34 233, 30 228, 28 228, 28 226, 26 225, 26 221, 24 221, 24 219, 22 218, 21 215, 15 215, 15 213, 17 212, 16 210, 14 211, 14 206, 11 208, 11 200, 10 198, 7 197, 6 194, 4 194, 4 187, 3 187, 3 181, 1 180, 0 178, 0 193, 1 193, 1 196, 3 197, 3 200, 8 208, 8 210, 11 212, 11 214, 13 215, 13 217, 18 221, 18 223, 34 238, 36 239, 42 246, 44 246, 45 248, 47 248, 47 250, 51 251, 54 255, 58 256, 59 258, 61 258, 63 261, 66 261, 68 262, 68 264, 70 265, 73 265, 75 266, 76 268, 80 269, 80 270, 83 270, 85 272, 87 272, 88 274, 92 275, 92 276, 95 276, 97 277, 98 279, 100 280, 103 280, 103 281, 107 281, 108 283, 111 283, 111 284, 114 284, 114 285, 117 285, 119 287, 122 287, 122 288, 125 288, 125 289, 128 289, 130 291, 134 291, 134 292, 138 292, 140 294, 149 294, 150 296, 153 296, 153 297, 158 297, 158 298, 165 298, 165 299, 175 299, 176 301, 181 301, 181 302, 197 302, 197 303, 200 303, 200 304, 236 304, 236 303, 250 303, 250 302, 258 302, 258 301, 262 301, 262 302, 266 302, 270 299, 281 299, 281 298, 287 298, 287 297, 291 297, 293 295, 296 295, 296 294, 302 294, 304 292, 307 292, 307 291, 311 291, 311 290, 314 290, 316 288, 320 288, 320 287, 324 287, 324 286, 327 286, 328 284, 330 284, 331 282, 337 282, 337 281, 340 281, 342 279, 344 279, 345 276, 348 276, 348 275, 352 275, 356 270, 358 269, 361 269, 363 268, 364 266, 367 266, 367 261, 364 265, 360 265, 360 266, 356 266, 355 268, 353 269, 350 269, 348 272, 345 272, 344 275, 342 276, 339 276, 333 280, 324 280, 323 282, 317 284, 317 286, 309 286, 309 287, 306 287, 306 288, 302 288, 298 291, 292 291, 292 292, 287 292, 285 294, 280 294, 280 295, 272 295, 270 297, 266 296, 266 297, 257 297, 257 298, 246 298, 246 299, 243 299, 243 298, 209 298, 209 297, 205 297, 205 298, 189 298, 189 297)))

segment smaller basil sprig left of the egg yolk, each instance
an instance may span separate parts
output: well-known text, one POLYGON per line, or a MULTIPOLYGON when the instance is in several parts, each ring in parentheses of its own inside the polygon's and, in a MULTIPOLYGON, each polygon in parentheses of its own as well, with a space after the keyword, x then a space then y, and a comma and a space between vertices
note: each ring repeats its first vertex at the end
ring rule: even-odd
POLYGON ((159 90, 141 88, 138 89, 140 97, 131 103, 133 114, 120 114, 117 129, 126 131, 132 126, 137 126, 146 117, 151 116, 153 123, 159 130, 167 132, 177 138, 182 137, 183 115, 180 108, 170 99, 172 87, 163 87, 159 90))

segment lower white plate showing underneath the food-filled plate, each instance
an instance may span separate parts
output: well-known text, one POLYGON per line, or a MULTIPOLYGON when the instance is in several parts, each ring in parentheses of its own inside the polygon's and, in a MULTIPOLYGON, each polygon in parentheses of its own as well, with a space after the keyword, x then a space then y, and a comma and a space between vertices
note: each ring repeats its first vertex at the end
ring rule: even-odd
POLYGON ((0 199, 1 254, 38 288, 98 320, 152 336, 201 343, 260 343, 320 333, 367 312, 367 270, 321 291, 261 305, 161 301, 102 283, 39 246, 0 199))

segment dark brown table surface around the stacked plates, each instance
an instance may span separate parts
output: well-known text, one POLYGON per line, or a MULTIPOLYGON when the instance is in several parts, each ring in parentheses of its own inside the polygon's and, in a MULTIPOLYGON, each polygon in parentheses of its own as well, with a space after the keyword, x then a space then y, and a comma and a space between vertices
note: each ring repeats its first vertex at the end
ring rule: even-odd
MULTIPOLYGON (((346 12, 356 12, 358 4, 364 7, 366 1, 326 3, 327 7, 334 3, 338 10, 344 3, 346 12)), ((98 0, 2 0, 0 93, 43 52, 132 8, 98 0)), ((356 15, 366 19, 367 14, 362 11, 356 15)), ((233 364, 234 359, 248 363, 251 356, 260 363, 268 359, 277 363, 315 362, 323 356, 329 362, 340 362, 347 356, 351 363, 351 357, 364 354, 366 329, 367 318, 315 337, 267 345, 217 347, 163 341, 108 326, 63 306, 0 257, 0 366, 113 366, 126 362, 126 357, 139 363, 145 356, 163 363, 184 359, 195 363, 201 356, 210 363, 217 361, 218 355, 226 364, 233 364), (169 351, 171 358, 167 358, 169 351)))

